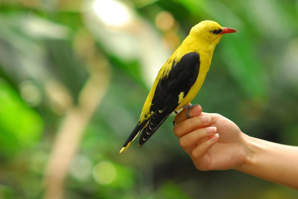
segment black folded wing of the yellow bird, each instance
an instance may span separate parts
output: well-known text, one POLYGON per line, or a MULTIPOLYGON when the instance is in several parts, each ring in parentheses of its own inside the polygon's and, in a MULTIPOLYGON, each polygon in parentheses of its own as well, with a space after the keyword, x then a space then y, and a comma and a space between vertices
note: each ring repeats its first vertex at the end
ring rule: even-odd
POLYGON ((179 62, 173 60, 168 76, 159 80, 150 106, 148 126, 139 138, 142 146, 159 128, 169 115, 179 106, 181 92, 184 97, 195 84, 200 70, 200 55, 196 52, 185 54, 179 62))

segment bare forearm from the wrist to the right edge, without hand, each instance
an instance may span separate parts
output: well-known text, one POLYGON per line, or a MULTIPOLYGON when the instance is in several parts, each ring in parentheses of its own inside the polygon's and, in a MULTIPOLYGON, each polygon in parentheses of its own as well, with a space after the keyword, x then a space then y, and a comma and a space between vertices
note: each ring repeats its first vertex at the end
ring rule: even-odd
POLYGON ((238 170, 298 189, 298 147, 244 137, 247 161, 238 170))

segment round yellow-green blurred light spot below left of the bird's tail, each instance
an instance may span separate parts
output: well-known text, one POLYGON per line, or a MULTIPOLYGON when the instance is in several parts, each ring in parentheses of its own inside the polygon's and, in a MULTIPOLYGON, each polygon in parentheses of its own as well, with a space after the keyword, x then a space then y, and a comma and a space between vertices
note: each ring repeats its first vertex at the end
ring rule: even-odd
POLYGON ((99 184, 110 184, 116 177, 116 168, 111 162, 102 161, 94 167, 93 177, 99 184))

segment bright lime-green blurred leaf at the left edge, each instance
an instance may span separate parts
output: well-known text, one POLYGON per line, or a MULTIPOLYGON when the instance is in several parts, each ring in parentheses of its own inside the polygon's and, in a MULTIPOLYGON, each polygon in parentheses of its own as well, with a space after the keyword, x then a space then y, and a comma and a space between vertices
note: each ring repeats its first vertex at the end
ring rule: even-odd
MULTIPOLYGON (((34 144, 44 128, 42 118, 28 107, 18 94, 4 81, 0 81, 0 126, 6 133, 1 133, 1 148, 10 148, 16 139, 19 147, 34 144)), ((3 151, 3 149, 1 150, 3 151)))

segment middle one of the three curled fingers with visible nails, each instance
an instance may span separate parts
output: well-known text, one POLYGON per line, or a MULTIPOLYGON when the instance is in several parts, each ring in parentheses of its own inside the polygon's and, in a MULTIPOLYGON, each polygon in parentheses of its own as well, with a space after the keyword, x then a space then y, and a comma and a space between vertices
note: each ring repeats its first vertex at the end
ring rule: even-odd
MULTIPOLYGON (((207 128, 197 129, 189 134, 182 136, 179 139, 179 144, 183 149, 194 146, 202 139, 210 137, 216 133, 216 127, 210 126, 207 128)), ((185 150, 184 150, 185 151, 185 150)))

